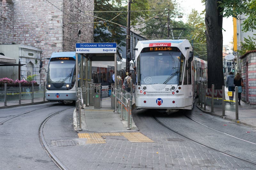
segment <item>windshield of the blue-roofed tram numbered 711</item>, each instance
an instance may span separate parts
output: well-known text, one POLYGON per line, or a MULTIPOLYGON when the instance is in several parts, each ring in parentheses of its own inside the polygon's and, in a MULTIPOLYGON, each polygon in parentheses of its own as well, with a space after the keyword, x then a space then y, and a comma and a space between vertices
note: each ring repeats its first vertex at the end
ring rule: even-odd
POLYGON ((47 83, 71 83, 76 61, 51 61, 47 83))

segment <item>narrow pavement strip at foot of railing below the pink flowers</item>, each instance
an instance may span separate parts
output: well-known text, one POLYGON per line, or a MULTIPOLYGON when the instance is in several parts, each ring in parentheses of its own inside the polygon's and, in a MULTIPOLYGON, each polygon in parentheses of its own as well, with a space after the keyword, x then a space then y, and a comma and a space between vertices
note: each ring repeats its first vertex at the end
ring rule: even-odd
POLYGON ((19 104, 19 100, 13 100, 13 101, 7 101, 7 106, 4 106, 4 102, 0 102, 0 109, 17 107, 17 106, 27 106, 31 104, 42 104, 48 101, 44 101, 43 98, 34 98, 34 103, 31 103, 31 102, 32 102, 31 99, 22 99, 21 104, 19 104))

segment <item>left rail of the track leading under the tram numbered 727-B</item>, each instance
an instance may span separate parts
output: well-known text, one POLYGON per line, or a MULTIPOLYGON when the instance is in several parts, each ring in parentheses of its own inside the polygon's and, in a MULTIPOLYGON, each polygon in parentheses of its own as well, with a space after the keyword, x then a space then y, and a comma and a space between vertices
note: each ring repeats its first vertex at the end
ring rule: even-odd
MULTIPOLYGON (((170 127, 166 126, 166 125, 163 124, 161 121, 159 121, 156 117, 153 116, 152 118, 153 118, 158 124, 160 124, 161 126, 163 126, 164 128, 166 128, 166 129, 168 129, 168 130, 170 130, 170 131, 172 131, 172 132, 174 132, 174 133, 176 133, 176 134, 182 136, 183 138, 186 138, 186 139, 188 139, 188 140, 190 140, 190 141, 193 141, 193 142, 195 142, 195 143, 197 143, 197 144, 199 144, 199 145, 202 145, 202 146, 207 147, 207 148, 209 148, 209 149, 212 149, 212 150, 214 150, 214 151, 220 152, 220 153, 222 153, 222 154, 228 155, 228 156, 230 156, 230 157, 233 157, 233 158, 239 159, 239 160, 241 160, 241 161, 244 161, 244 162, 247 162, 247 163, 256 165, 256 162, 252 162, 252 161, 250 161, 250 160, 246 160, 246 159, 237 157, 237 156, 235 156, 235 155, 233 155, 233 154, 230 154, 230 153, 228 153, 228 152, 221 151, 221 150, 219 150, 219 149, 213 148, 213 147, 211 147, 211 146, 209 146, 209 145, 205 145, 205 144, 203 144, 203 143, 201 143, 201 142, 199 142, 199 141, 196 141, 196 140, 194 140, 194 139, 192 139, 192 138, 189 138, 188 136, 185 136, 185 135, 183 135, 183 134, 181 134, 181 133, 179 133, 179 132, 177 132, 177 131, 171 129, 170 127)), ((231 136, 232 136, 232 135, 231 135, 231 136)), ((240 138, 239 138, 239 139, 240 139, 240 138)), ((244 139, 242 139, 242 140, 244 140, 244 139)), ((248 142, 249 142, 249 141, 248 141, 248 142)), ((253 143, 253 144, 254 144, 254 143, 253 143)))

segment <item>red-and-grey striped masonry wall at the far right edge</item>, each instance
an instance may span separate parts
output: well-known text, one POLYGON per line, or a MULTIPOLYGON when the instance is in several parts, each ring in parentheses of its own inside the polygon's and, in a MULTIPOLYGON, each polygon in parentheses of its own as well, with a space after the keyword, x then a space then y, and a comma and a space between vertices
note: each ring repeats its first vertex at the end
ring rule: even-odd
POLYGON ((241 58, 242 78, 244 81, 242 100, 256 105, 256 52, 241 58))

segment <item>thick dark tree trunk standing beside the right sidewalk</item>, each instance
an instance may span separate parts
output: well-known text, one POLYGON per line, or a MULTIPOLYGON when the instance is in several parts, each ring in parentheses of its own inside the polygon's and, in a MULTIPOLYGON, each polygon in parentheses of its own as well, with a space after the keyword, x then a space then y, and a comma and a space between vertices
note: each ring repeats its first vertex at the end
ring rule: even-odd
POLYGON ((222 20, 218 0, 206 0, 205 2, 205 35, 207 44, 208 88, 214 84, 214 89, 222 89, 224 74, 222 64, 222 20))

